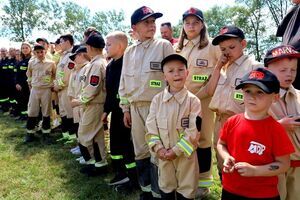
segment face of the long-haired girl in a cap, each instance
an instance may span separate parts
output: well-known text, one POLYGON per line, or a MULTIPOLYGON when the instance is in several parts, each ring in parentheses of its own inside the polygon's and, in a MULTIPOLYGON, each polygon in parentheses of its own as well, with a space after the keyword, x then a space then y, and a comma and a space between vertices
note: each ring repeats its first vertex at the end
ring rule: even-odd
POLYGON ((183 21, 183 29, 189 40, 192 40, 199 36, 200 31, 203 28, 203 23, 195 16, 188 16, 183 21))

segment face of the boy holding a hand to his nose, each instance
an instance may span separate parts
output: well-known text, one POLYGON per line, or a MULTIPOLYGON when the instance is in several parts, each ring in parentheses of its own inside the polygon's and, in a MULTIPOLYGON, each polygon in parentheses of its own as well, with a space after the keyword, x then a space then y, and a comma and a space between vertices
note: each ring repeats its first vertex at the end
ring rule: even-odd
POLYGON ((233 63, 244 54, 243 49, 246 45, 246 40, 240 41, 238 38, 230 38, 219 43, 220 49, 229 63, 233 63))

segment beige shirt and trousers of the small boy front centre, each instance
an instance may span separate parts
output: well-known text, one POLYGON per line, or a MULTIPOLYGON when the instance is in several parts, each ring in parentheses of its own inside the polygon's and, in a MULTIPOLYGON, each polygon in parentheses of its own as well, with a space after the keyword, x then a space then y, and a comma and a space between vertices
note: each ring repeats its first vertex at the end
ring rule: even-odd
POLYGON ((159 186, 166 193, 176 189, 187 198, 195 197, 199 172, 195 150, 200 136, 196 117, 200 111, 199 99, 186 88, 175 95, 166 88, 153 98, 146 121, 150 151, 172 149, 177 155, 174 161, 158 160, 159 186))

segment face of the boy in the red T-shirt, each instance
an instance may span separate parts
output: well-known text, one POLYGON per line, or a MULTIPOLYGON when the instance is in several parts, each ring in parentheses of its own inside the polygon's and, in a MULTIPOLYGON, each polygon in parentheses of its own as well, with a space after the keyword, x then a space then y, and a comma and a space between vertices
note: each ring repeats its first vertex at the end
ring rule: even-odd
POLYGON ((278 95, 267 94, 259 87, 247 84, 243 87, 245 110, 253 114, 265 114, 278 95))

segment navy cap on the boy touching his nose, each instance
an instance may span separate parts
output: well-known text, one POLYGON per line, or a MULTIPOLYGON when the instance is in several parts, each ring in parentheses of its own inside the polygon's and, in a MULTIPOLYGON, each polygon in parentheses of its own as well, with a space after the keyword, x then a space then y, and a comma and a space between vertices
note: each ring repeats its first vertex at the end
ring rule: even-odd
POLYGON ((220 42, 230 38, 245 39, 245 35, 242 29, 236 26, 224 26, 221 28, 219 35, 213 39, 212 44, 218 45, 220 42))

